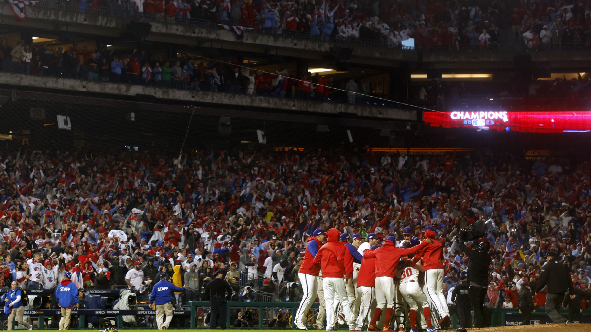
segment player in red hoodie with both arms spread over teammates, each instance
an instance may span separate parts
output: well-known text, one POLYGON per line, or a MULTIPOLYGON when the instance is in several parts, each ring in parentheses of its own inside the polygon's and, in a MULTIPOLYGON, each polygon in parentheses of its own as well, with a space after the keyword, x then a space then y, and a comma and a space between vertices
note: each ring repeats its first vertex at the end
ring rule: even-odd
POLYGON ((382 314, 382 309, 386 307, 386 324, 382 328, 382 331, 392 331, 388 326, 392 312, 394 311, 394 276, 398 267, 398 261, 401 256, 407 256, 411 253, 418 252, 430 243, 433 243, 433 239, 427 239, 425 242, 411 249, 397 248, 396 238, 394 236, 388 236, 382 248, 375 250, 368 250, 363 253, 363 258, 376 258, 376 271, 375 271, 375 293, 376 301, 378 302, 375 308, 374 317, 371 323, 369 323, 368 330, 377 331, 375 324, 379 320, 382 314))

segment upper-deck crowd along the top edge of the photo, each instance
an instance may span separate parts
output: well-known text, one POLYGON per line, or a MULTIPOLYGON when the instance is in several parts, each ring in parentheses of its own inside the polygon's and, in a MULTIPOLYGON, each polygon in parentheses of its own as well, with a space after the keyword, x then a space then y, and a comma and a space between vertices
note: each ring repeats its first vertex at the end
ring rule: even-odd
MULTIPOLYGON (((57 1, 70 4, 70 1, 57 1)), ((389 47, 414 38, 418 45, 591 41, 589 4, 558 1, 273 1, 273 0, 80 0, 79 11, 108 9, 158 21, 206 20, 300 32, 321 40, 379 41, 389 47), (507 33, 502 33, 507 32, 507 33)))

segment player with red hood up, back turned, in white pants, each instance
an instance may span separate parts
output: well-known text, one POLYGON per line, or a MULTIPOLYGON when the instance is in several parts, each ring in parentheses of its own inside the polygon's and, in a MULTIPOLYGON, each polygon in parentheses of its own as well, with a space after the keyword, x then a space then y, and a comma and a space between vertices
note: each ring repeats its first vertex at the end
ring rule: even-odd
MULTIPOLYGON (((349 277, 345 271, 346 246, 339 243, 340 231, 332 228, 328 232, 327 243, 323 245, 314 257, 314 265, 322 270, 322 287, 324 290, 324 305, 326 305, 326 330, 335 326, 335 302, 343 306, 345 321, 349 330, 355 329, 353 315, 347 297, 345 284, 349 277)), ((353 271, 351 271, 352 273, 353 271)))

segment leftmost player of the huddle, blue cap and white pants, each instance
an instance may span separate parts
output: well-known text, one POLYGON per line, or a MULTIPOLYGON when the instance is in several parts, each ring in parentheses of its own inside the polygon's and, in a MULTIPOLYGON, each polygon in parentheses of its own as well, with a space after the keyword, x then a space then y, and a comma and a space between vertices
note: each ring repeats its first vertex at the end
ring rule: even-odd
POLYGON ((308 239, 308 245, 306 246, 306 253, 304 253, 304 260, 301 263, 300 271, 298 275, 300 277, 301 287, 304 289, 304 294, 300 302, 300 307, 296 312, 294 318, 294 324, 301 330, 307 330, 306 324, 304 324, 304 318, 307 317, 308 311, 312 306, 312 302, 316 300, 318 284, 316 276, 320 269, 313 264, 316 253, 322 246, 322 241, 326 232, 322 229, 316 229, 312 233, 312 237, 308 239))

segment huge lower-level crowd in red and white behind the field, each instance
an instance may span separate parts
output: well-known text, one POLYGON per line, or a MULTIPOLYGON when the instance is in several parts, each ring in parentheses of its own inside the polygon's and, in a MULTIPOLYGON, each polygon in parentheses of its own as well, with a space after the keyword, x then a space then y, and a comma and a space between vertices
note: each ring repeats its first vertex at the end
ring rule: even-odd
MULTIPOLYGON (((221 270, 238 300, 284 288, 285 300, 297 301, 291 283, 314 230, 393 235, 400 245, 405 227, 423 238, 432 226, 444 244, 447 292, 469 262, 454 235, 491 218, 499 233, 487 236, 488 307, 517 307, 522 285, 535 289, 549 250, 577 288, 591 289, 588 160, 371 149, 171 157, 10 144, 0 159, 0 287, 53 288, 67 271, 79 288, 147 294, 169 274, 190 291, 177 294, 180 304, 199 298, 221 270), (237 286, 241 278, 265 281, 247 290, 237 286)), ((544 296, 532 299, 536 307, 544 296)))

